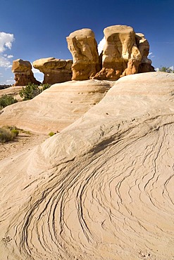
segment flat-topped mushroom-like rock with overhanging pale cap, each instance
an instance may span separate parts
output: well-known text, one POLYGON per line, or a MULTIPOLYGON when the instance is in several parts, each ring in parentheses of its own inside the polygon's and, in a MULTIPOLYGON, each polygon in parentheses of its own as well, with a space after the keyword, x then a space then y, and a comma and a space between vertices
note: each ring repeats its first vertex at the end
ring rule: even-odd
POLYGON ((44 73, 43 84, 54 84, 68 82, 72 77, 72 60, 61 60, 56 58, 42 58, 32 63, 35 69, 44 73))

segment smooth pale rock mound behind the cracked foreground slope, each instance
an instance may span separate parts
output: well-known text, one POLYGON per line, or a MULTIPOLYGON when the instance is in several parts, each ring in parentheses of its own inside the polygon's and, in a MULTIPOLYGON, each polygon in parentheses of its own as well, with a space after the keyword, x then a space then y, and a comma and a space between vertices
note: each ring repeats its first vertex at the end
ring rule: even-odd
POLYGON ((113 82, 97 80, 54 84, 32 100, 1 110, 0 126, 15 125, 44 134, 61 131, 99 103, 111 86, 113 82))

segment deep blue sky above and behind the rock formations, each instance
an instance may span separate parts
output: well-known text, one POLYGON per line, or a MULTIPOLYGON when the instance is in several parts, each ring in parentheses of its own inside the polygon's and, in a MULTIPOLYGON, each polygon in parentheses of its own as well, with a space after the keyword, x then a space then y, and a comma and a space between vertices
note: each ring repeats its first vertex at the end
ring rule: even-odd
POLYGON ((174 65, 173 0, 0 0, 0 84, 13 84, 13 60, 72 58, 70 32, 90 28, 99 43, 110 25, 144 33, 154 67, 174 65))

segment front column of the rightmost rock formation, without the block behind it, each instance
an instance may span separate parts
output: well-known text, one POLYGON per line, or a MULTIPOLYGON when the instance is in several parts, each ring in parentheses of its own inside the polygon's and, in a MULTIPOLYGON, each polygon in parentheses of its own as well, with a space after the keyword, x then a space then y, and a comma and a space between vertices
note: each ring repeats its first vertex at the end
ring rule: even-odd
POLYGON ((125 75, 130 74, 131 67, 137 72, 141 55, 137 47, 134 46, 135 32, 132 27, 125 25, 106 27, 104 36, 106 44, 103 51, 102 69, 95 75, 94 79, 117 80, 123 72, 125 75), (127 70, 130 59, 131 62, 127 70))

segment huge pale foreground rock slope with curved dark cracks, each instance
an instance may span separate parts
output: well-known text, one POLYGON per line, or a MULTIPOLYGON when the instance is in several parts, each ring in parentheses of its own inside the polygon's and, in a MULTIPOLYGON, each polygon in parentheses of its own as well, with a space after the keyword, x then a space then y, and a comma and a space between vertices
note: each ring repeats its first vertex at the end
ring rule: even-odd
MULTIPOLYGON (((174 74, 123 77, 0 162, 0 259, 172 259, 174 74)), ((13 116, 13 115, 11 115, 13 116)))

